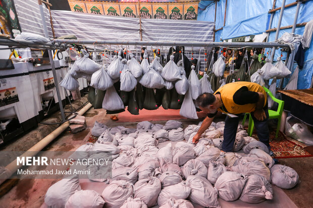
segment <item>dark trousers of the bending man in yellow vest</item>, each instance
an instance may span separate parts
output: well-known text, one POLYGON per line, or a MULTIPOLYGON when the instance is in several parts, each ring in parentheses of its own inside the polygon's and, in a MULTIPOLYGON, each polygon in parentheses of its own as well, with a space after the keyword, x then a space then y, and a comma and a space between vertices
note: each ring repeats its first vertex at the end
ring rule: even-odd
MULTIPOLYGON (((257 120, 254 117, 253 113, 250 114, 254 122, 254 127, 257 131, 258 140, 264 143, 270 149, 270 130, 268 125, 269 110, 268 108, 266 108, 264 109, 264 111, 266 114, 266 119, 263 121, 257 120)), ((222 146, 222 150, 225 152, 233 152, 238 123, 239 117, 231 118, 229 116, 226 116, 224 128, 224 142, 222 146)))

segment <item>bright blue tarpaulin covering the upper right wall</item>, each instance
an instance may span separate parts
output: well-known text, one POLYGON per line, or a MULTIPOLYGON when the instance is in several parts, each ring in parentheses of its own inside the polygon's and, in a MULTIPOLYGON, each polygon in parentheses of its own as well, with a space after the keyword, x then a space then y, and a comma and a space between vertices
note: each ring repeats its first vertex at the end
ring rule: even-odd
MULTIPOLYGON (((286 0, 285 5, 294 3, 295 0, 286 0)), ((215 18, 215 4, 217 4, 216 22, 215 28, 219 29, 224 26, 224 14, 225 14, 226 0, 220 0, 218 2, 213 1, 200 1, 198 20, 214 22, 215 18), (204 9, 204 7, 206 7, 204 9)), ((276 1, 276 7, 282 6, 282 0, 276 1)), ((225 39, 256 35, 265 32, 269 27, 271 15, 268 13, 273 7, 273 0, 228 0, 226 10, 225 26, 222 30, 215 33, 215 41, 219 42, 225 39)), ((296 13, 296 5, 286 8, 284 10, 281 27, 292 25, 294 16, 296 13)), ((271 28, 277 27, 279 20, 280 10, 275 12, 273 23, 271 28)), ((298 23, 308 22, 313 19, 313 1, 305 2, 301 4, 298 23)), ((280 30, 279 36, 281 37, 285 32, 290 33, 290 29, 280 30)), ((295 30, 295 34, 302 35, 304 27, 298 27, 295 30)), ((269 36, 269 42, 275 40, 276 32, 271 32, 269 36)), ((276 50, 275 58, 283 55, 282 59, 286 58, 286 52, 281 53, 280 49, 276 50)), ((270 54, 269 54, 270 55, 270 54)), ((294 63, 292 73, 296 67, 294 63)), ((304 66, 302 70, 299 70, 298 89, 306 89, 310 87, 313 74, 313 41, 310 48, 305 51, 304 66)), ((289 81, 291 75, 284 81, 284 86, 289 81)))

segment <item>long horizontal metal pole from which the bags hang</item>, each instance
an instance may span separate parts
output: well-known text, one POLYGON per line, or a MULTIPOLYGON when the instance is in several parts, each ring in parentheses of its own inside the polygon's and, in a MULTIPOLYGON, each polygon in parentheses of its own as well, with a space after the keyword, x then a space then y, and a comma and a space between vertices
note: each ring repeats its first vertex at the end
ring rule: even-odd
POLYGON ((53 43, 84 44, 84 45, 154 45, 154 46, 221 46, 221 47, 289 47, 288 44, 281 43, 253 43, 253 42, 174 42, 174 41, 107 41, 107 40, 68 40, 54 39, 53 43))

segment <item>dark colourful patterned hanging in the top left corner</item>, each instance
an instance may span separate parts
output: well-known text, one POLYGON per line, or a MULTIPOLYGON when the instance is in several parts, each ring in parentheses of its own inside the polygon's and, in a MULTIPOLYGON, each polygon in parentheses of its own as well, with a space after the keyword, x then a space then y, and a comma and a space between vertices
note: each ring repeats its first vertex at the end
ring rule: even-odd
POLYGON ((16 37, 21 33, 21 27, 11 0, 0 0, 0 29, 4 35, 16 37))

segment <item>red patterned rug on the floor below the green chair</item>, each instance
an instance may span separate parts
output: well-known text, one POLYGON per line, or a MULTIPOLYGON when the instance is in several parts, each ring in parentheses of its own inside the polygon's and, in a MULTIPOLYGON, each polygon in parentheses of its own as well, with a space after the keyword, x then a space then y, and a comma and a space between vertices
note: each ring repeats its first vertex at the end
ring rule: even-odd
MULTIPOLYGON (((279 132, 275 138, 276 129, 270 129, 270 146, 275 158, 302 158, 313 157, 308 151, 304 150, 305 145, 295 140, 288 138, 279 132)), ((256 132, 252 134, 253 138, 257 138, 256 132)))

